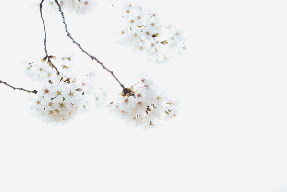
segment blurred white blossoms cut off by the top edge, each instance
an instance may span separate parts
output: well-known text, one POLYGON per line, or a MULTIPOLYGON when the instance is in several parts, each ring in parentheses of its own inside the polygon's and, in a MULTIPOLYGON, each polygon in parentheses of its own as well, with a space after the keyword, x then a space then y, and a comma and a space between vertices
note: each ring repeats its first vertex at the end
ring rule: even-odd
MULTIPOLYGON (((40 2, 38 4, 34 3, 31 6, 38 7, 40 2)), ((47 5, 47 9, 59 11, 59 7, 55 0, 45 0, 44 2, 47 5)), ((98 3, 97 0, 59 0, 58 2, 61 5, 61 9, 69 12, 75 12, 76 14, 85 14, 90 12, 98 3)))

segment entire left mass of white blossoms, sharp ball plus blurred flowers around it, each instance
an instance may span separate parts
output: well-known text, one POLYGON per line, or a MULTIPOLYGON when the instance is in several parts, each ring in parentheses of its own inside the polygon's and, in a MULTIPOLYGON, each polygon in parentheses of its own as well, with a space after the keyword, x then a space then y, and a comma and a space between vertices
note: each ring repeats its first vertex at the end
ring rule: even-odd
MULTIPOLYGON (((55 58, 55 56, 50 56, 55 58)), ((52 62, 34 64, 22 60, 26 74, 32 80, 43 83, 38 91, 37 98, 29 98, 32 101, 30 110, 32 116, 37 116, 46 123, 65 124, 79 113, 89 109, 94 100, 96 107, 103 104, 106 99, 106 91, 97 89, 94 84, 95 72, 90 71, 84 78, 78 78, 70 72, 70 57, 62 57, 62 72, 58 73, 52 62)))

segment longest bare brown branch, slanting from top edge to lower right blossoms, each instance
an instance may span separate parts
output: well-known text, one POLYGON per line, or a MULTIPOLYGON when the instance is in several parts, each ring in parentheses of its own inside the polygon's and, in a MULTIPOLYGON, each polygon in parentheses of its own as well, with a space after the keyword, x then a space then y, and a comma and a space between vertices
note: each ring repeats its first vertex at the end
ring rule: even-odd
POLYGON ((126 90, 127 88, 125 88, 125 86, 119 81, 119 79, 114 75, 113 71, 109 70, 108 68, 106 68, 104 66, 104 64, 102 62, 100 62, 96 57, 94 57, 93 55, 90 55, 88 52, 86 52, 79 43, 77 43, 74 38, 71 36, 71 34, 69 33, 68 29, 67 29, 67 23, 65 21, 65 17, 64 17, 64 13, 61 9, 61 5, 59 4, 59 2, 57 0, 55 0, 58 7, 59 7, 59 11, 61 12, 61 15, 62 15, 62 18, 63 18, 63 23, 65 24, 65 29, 66 29, 66 32, 67 32, 67 36, 73 41, 73 43, 75 43, 80 49, 82 52, 86 53, 92 60, 95 60, 96 62, 98 62, 102 67, 103 69, 107 70, 114 78, 115 80, 117 80, 117 82, 121 85, 121 87, 126 90))

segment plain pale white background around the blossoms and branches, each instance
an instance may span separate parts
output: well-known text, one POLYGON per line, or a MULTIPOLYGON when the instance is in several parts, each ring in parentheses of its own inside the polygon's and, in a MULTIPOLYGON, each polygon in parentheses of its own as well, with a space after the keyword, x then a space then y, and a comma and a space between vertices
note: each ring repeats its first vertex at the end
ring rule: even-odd
MULTIPOLYGON (((179 116, 145 132, 104 108, 53 126, 31 117, 33 94, 1 84, 0 191, 287 191, 286 1, 145 1, 188 39, 164 65, 115 44, 122 2, 66 13, 68 30, 126 87, 150 70, 180 96, 179 116)), ((0 79, 39 90, 21 63, 45 56, 31 3, 38 1, 1 4, 0 79)), ((117 82, 66 36, 59 12, 43 17, 48 54, 73 51, 79 71, 94 64, 112 101, 117 82)))

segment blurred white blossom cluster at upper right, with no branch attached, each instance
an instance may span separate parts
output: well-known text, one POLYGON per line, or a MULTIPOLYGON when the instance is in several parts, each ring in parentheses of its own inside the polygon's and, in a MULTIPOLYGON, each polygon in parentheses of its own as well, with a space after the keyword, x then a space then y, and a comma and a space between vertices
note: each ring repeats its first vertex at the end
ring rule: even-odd
POLYGON ((121 9, 125 26, 120 27, 119 43, 144 51, 148 60, 165 62, 185 50, 183 32, 174 25, 162 26, 157 14, 137 3, 121 9))

